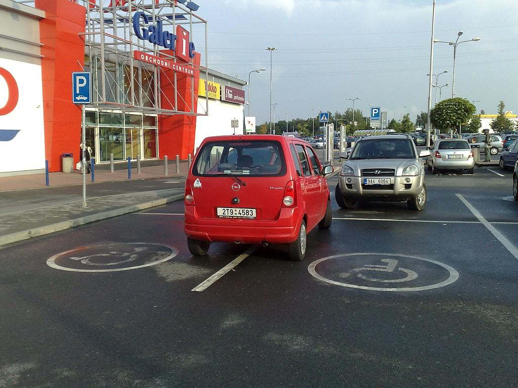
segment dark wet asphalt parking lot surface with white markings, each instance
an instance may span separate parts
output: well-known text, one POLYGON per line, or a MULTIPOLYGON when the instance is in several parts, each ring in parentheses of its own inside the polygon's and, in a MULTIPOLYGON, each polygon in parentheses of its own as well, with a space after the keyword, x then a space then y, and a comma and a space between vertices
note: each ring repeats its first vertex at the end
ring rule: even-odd
POLYGON ((182 202, 4 247, 0 381, 516 386, 518 202, 497 172, 426 172, 421 212, 332 198, 301 262, 282 246, 191 256, 182 202))

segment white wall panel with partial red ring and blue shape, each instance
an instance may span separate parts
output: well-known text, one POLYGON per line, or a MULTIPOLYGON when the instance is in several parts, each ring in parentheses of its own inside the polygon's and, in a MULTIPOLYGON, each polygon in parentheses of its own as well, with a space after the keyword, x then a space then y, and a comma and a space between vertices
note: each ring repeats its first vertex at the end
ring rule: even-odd
POLYGON ((0 58, 0 173, 45 169, 41 66, 0 58))

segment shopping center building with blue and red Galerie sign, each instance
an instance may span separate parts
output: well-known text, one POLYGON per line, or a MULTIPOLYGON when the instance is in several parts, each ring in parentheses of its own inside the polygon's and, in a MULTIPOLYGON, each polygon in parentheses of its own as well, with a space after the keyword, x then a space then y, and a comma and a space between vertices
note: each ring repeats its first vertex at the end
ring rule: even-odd
POLYGON ((243 133, 246 82, 209 69, 199 8, 0 0, 0 176, 61 171, 63 154, 75 165, 83 123, 96 163, 187 159, 207 136, 243 133))

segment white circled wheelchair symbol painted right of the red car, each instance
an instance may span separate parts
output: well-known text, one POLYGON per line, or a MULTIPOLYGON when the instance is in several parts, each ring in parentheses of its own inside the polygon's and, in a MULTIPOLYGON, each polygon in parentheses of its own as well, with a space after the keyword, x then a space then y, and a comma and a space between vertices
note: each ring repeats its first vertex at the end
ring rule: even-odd
POLYGON ((347 253, 315 260, 308 266, 316 279, 370 291, 424 291, 450 285, 455 268, 418 256, 392 253, 347 253), (319 267, 319 264, 326 262, 319 267))

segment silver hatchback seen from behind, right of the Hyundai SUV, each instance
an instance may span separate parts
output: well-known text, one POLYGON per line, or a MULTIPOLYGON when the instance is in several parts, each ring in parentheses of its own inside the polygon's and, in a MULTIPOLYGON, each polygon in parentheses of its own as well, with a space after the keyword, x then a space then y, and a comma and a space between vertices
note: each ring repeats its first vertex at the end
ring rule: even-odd
POLYGON ((440 170, 468 170, 473 173, 473 151, 466 140, 436 140, 428 157, 428 169, 436 174, 440 170))

